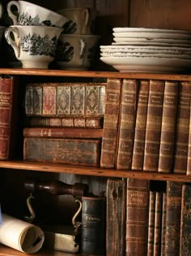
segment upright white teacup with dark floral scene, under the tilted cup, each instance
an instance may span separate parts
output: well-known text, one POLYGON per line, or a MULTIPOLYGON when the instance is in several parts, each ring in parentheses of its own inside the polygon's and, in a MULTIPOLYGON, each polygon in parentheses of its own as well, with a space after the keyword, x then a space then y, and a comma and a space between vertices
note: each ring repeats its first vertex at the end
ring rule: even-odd
POLYGON ((48 68, 57 49, 62 28, 19 26, 6 28, 5 37, 24 68, 48 68))

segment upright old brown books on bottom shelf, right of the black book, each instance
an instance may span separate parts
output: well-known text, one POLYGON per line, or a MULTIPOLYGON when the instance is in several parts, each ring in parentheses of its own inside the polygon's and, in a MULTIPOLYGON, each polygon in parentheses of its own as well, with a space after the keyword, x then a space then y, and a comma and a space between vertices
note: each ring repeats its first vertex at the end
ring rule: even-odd
POLYGON ((107 256, 190 254, 190 184, 109 178, 107 199, 107 256))

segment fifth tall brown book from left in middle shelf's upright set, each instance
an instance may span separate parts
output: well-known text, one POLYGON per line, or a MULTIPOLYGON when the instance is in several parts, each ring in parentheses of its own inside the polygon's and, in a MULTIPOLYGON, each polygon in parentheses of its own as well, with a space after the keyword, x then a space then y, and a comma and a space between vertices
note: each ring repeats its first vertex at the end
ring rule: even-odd
POLYGON ((163 173, 172 172, 178 85, 177 81, 165 81, 158 168, 163 173))

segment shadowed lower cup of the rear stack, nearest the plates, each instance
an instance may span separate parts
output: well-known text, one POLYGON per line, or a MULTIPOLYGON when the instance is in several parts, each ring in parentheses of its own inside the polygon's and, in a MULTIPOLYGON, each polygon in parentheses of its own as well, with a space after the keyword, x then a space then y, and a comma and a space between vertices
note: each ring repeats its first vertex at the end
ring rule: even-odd
POLYGON ((57 43, 56 63, 61 69, 87 70, 94 65, 98 56, 96 35, 61 34, 57 43))

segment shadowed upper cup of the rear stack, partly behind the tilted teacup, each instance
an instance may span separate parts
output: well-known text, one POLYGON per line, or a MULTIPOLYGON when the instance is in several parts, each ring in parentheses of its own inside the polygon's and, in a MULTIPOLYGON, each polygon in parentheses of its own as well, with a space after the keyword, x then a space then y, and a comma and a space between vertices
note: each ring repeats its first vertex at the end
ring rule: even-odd
POLYGON ((64 33, 90 35, 91 34, 91 11, 88 8, 68 8, 58 10, 57 13, 64 15, 69 21, 64 25, 64 33))

